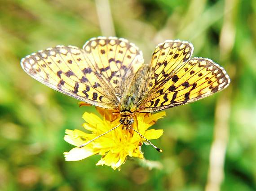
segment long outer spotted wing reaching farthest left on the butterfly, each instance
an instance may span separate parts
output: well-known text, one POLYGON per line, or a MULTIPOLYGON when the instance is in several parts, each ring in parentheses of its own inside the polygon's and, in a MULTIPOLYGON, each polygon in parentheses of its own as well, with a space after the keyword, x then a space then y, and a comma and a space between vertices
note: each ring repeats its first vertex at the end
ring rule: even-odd
POLYGON ((29 75, 57 91, 96 106, 115 107, 115 94, 77 47, 48 48, 26 56, 21 65, 29 75))

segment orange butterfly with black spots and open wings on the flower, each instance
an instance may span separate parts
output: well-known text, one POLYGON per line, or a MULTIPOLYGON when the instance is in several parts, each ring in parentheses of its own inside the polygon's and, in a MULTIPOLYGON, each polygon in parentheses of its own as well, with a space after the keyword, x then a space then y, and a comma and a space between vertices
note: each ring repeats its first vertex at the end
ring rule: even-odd
POLYGON ((194 102, 230 84, 224 68, 211 59, 191 58, 193 50, 190 42, 166 40, 145 64, 142 52, 128 40, 97 37, 82 49, 56 46, 32 53, 21 66, 52 89, 118 112, 120 124, 130 129, 137 112, 194 102))

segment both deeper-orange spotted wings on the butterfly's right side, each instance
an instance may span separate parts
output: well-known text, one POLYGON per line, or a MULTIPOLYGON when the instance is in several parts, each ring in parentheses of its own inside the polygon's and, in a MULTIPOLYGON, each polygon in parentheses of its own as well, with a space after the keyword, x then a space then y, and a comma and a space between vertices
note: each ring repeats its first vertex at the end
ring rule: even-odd
POLYGON ((138 112, 154 112, 194 102, 225 89, 230 78, 224 68, 206 58, 192 58, 189 42, 166 41, 156 47, 146 94, 138 112))

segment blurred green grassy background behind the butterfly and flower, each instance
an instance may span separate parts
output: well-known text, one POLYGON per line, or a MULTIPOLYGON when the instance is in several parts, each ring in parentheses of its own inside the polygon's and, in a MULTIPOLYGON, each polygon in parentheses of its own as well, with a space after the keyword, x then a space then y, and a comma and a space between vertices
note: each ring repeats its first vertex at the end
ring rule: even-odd
POLYGON ((256 0, 0 0, 1 191, 256 191, 256 0), (166 39, 188 40, 213 59, 230 86, 167 110, 143 146, 162 170, 100 156, 64 161, 65 129, 82 129, 77 101, 35 81, 20 59, 56 45, 82 47, 99 35, 127 38, 144 54, 166 39))

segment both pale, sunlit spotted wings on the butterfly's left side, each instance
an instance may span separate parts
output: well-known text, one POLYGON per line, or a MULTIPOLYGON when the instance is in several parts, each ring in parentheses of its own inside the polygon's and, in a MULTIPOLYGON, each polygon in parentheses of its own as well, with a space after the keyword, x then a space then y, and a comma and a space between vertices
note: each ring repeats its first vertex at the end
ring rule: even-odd
POLYGON ((112 38, 99 37, 86 42, 84 49, 73 46, 48 48, 26 56, 21 66, 30 76, 52 89, 94 106, 117 109, 119 99, 115 90, 121 86, 125 75, 135 72, 136 67, 131 65, 138 63, 142 55, 126 40, 114 38, 114 42, 112 38), (129 58, 112 54, 110 49, 121 49, 129 58), (108 55, 107 62, 105 55, 108 55), (112 63, 113 59, 115 63, 112 63), (117 79, 119 81, 115 83, 117 79))

